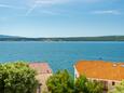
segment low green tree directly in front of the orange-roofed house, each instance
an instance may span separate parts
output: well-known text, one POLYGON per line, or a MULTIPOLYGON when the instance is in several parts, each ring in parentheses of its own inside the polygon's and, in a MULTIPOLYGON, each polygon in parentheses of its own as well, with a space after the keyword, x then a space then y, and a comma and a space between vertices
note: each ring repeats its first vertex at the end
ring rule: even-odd
POLYGON ((85 76, 75 80, 75 93, 102 93, 102 88, 100 82, 87 80, 85 76))

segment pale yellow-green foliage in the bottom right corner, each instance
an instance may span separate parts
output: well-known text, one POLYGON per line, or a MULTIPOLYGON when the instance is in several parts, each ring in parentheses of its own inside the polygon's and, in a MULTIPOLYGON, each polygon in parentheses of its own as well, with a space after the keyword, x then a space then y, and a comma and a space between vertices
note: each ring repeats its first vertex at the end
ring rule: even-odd
POLYGON ((115 87, 114 90, 111 90, 109 93, 124 93, 124 81, 115 87))

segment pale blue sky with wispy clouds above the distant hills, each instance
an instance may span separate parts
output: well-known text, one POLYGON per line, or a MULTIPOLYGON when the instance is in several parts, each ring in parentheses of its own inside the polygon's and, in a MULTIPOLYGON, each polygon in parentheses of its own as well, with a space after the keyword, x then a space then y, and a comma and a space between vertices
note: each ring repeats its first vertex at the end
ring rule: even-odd
POLYGON ((0 0, 0 35, 124 35, 124 0, 0 0))

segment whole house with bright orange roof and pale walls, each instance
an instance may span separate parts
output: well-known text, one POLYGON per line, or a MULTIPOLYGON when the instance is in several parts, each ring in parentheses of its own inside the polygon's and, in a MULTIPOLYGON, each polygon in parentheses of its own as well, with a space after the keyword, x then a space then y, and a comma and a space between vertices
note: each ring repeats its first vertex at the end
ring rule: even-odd
POLYGON ((87 79, 99 81, 104 90, 113 90, 124 79, 124 63, 104 61, 80 61, 74 65, 74 78, 85 75, 87 79))

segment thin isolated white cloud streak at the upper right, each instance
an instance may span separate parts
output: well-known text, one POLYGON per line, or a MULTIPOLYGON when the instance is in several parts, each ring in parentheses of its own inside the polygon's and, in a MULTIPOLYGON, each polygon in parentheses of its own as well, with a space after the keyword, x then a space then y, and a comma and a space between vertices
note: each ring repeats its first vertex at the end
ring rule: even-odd
POLYGON ((93 11, 93 14, 113 14, 113 15, 120 15, 121 12, 118 10, 105 10, 105 11, 93 11))

